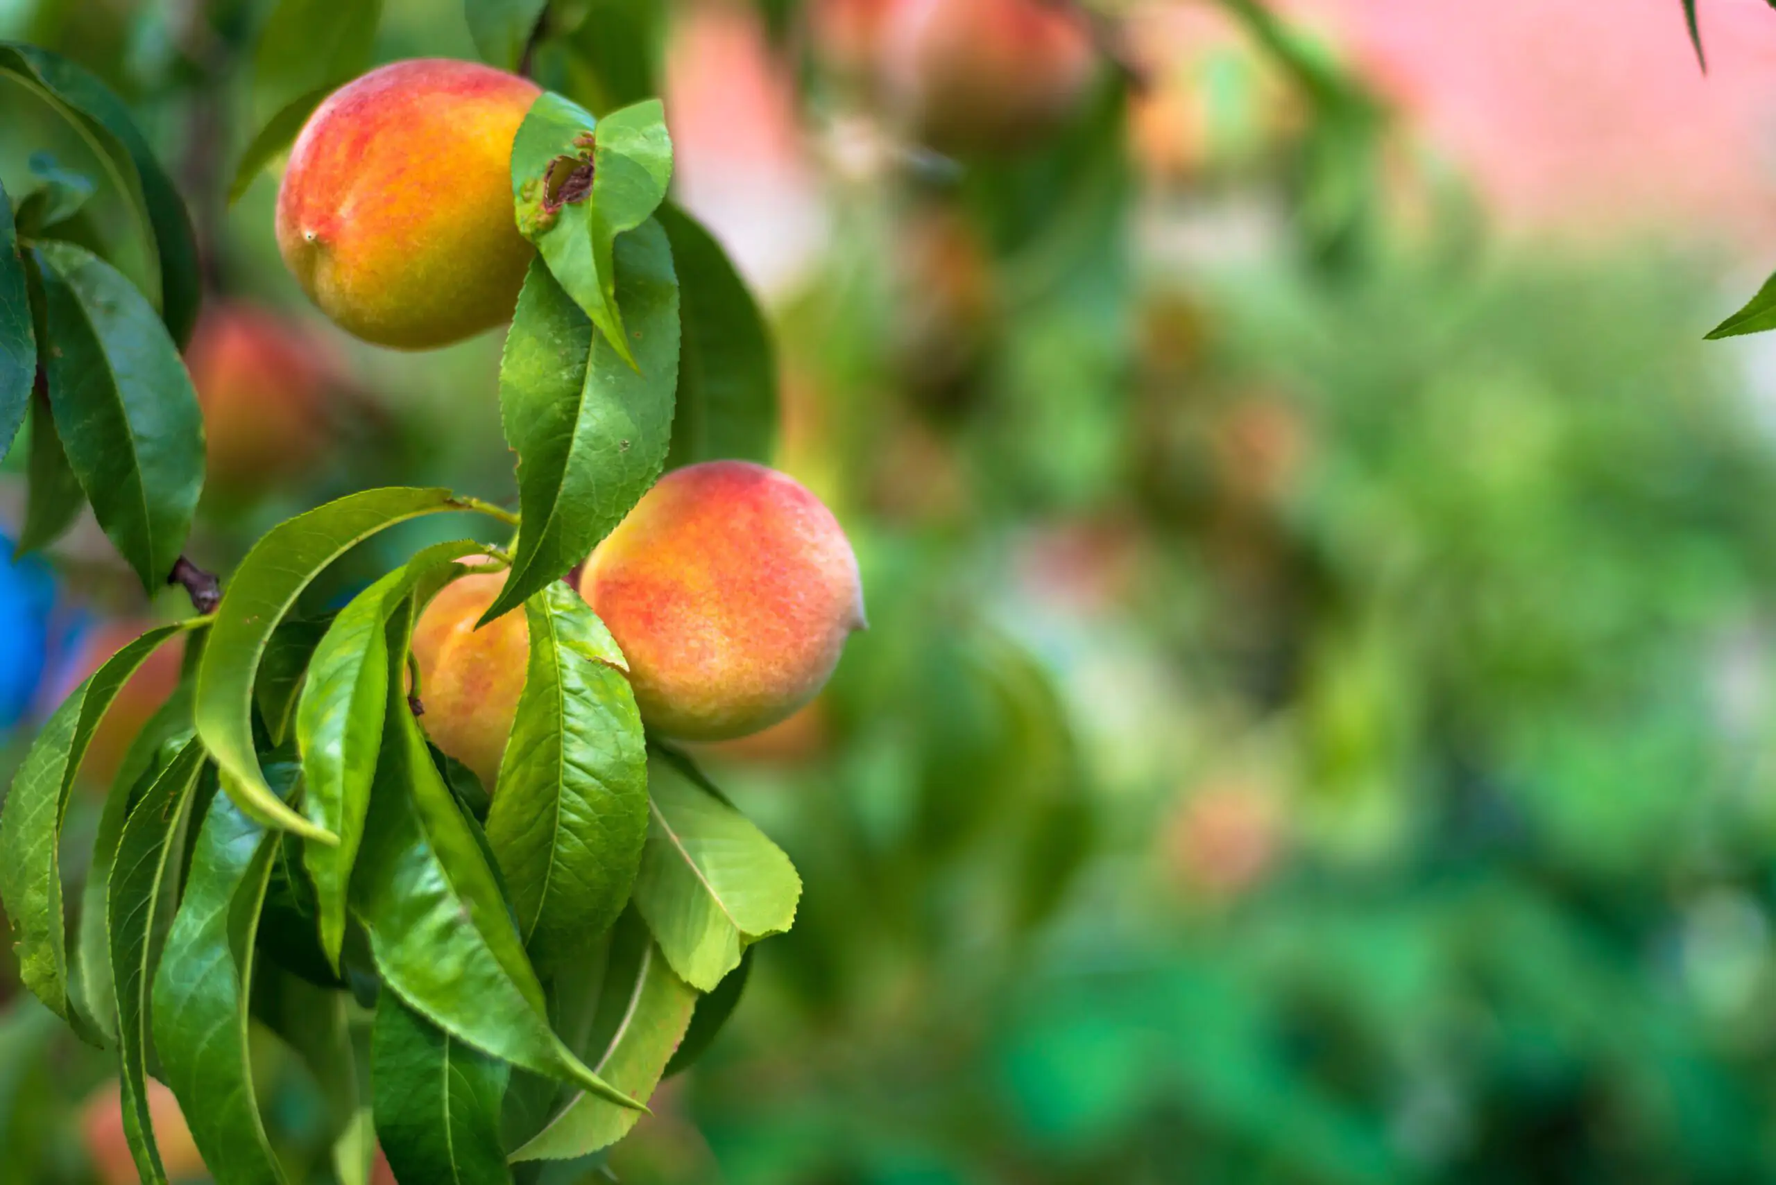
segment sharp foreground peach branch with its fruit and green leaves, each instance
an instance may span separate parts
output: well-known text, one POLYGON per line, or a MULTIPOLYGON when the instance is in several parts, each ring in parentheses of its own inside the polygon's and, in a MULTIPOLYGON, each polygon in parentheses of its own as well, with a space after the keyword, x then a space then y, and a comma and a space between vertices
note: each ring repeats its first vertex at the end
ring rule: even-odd
POLYGON ((668 200, 661 105, 595 119, 527 82, 535 0, 469 16, 487 64, 394 64, 341 89, 368 66, 377 5, 279 4, 266 73, 332 53, 252 140, 236 190, 295 142, 286 263, 361 337, 424 348, 510 319, 497 397, 519 509, 366 490, 274 527, 226 578, 185 553, 204 479, 179 357, 202 287, 186 208, 117 96, 0 44, 0 71, 103 170, 37 154, 30 188, 0 192, 21 546, 91 507, 144 587, 194 605, 67 695, 0 816, 21 979, 115 1050, 144 1181, 169 1178, 151 1077, 218 1183, 288 1180, 254 1025, 339 1103, 343 1181, 369 1180, 378 1148, 405 1185, 595 1157, 714 1038, 751 944, 794 921, 789 859, 673 742, 810 699, 861 624, 856 561, 826 507, 748 463, 771 447, 771 344, 719 245, 668 200), (401 135, 408 115, 424 137, 401 135), (416 190, 428 161, 448 167, 416 190), (128 225, 94 216, 99 186, 128 225), (650 493, 668 470, 671 491, 650 493), (437 514, 511 539, 465 530, 336 612, 298 608, 352 548, 437 514), (67 859, 82 882, 64 869, 82 757, 181 635, 178 694, 137 736, 91 860, 67 859))

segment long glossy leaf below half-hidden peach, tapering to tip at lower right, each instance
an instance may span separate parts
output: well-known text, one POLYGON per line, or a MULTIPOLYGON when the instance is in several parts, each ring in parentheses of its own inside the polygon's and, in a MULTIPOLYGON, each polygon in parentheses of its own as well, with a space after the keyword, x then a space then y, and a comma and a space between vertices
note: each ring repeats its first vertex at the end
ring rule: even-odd
MULTIPOLYGON (((405 667, 405 647, 391 671, 405 667)), ((391 679, 377 784, 352 876, 384 986, 432 1024, 535 1073, 623 1096, 554 1034, 492 864, 391 679)))

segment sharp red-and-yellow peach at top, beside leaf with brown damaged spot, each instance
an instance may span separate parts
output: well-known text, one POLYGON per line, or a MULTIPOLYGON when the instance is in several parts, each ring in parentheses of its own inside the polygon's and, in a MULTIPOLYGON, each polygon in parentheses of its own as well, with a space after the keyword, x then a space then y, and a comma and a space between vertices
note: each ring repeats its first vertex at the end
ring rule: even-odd
POLYGON ((538 94, 490 66, 417 59, 321 103, 277 192, 277 247, 309 298, 401 349, 506 321, 531 261, 513 220, 511 140, 538 94))

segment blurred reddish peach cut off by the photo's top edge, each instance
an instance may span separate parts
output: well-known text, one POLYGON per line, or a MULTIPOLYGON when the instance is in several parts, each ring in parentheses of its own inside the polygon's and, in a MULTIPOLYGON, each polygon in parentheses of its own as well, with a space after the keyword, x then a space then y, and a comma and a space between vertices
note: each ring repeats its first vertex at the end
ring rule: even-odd
POLYGON ((1064 124, 1098 69, 1083 18, 1044 0, 904 0, 883 37, 897 114, 932 147, 1019 147, 1064 124))

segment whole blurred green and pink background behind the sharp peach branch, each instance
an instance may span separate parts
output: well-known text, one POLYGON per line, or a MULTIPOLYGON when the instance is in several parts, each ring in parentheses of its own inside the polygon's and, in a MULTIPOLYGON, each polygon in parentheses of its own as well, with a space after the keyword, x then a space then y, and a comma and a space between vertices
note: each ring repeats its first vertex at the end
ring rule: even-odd
MULTIPOLYGON (((224 571, 350 490, 515 495, 499 335, 352 342, 275 176, 226 204, 268 7, 0 0, 186 188, 224 571)), ((1776 339, 1701 342, 1776 266, 1776 12, 1698 16, 1707 76, 1680 0, 558 0, 543 83, 666 96, 872 621, 703 754, 801 915, 593 1173, 1776 1180, 1776 339)), ((387 0, 417 55, 474 55, 460 4, 387 0)), ((5 184, 78 167, 5 85, 5 184)), ((9 763, 179 608, 133 596, 91 523, 0 569, 9 763)), ((0 1178, 133 1181, 107 1057, 11 983, 0 1178)))

